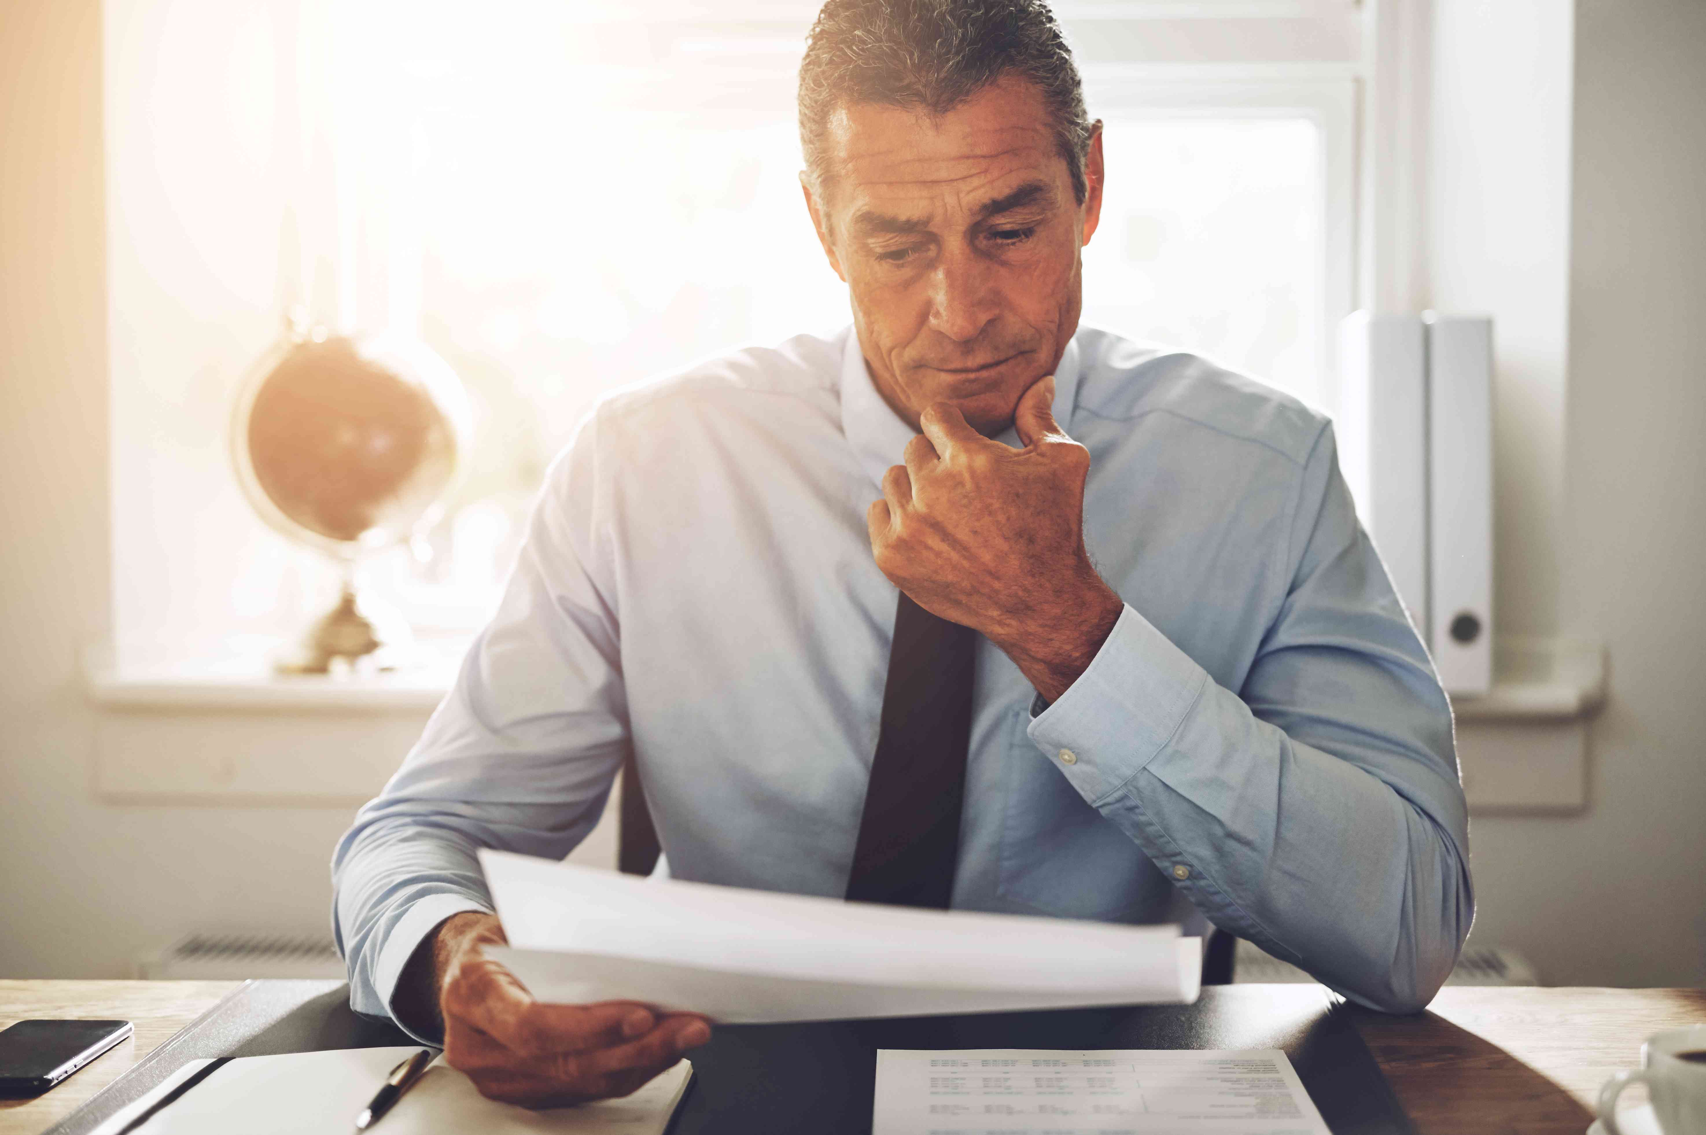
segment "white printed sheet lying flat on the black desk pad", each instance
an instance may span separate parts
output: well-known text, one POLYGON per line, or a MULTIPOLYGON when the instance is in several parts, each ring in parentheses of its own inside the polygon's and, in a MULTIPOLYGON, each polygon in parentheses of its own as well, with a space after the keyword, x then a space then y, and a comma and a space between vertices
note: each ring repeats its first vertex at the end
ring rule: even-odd
POLYGON ((872 1135, 1329 1135, 1276 1048, 877 1051, 872 1135))

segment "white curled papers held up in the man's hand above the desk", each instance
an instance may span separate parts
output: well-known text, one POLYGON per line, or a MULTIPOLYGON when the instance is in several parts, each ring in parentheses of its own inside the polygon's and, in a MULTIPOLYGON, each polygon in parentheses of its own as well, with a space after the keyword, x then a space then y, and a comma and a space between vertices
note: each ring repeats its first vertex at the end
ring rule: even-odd
POLYGON ((1201 980, 1201 940, 1175 925, 844 903, 490 850, 479 862, 510 940, 486 952, 548 1002, 838 1021, 1192 1002, 1201 980))

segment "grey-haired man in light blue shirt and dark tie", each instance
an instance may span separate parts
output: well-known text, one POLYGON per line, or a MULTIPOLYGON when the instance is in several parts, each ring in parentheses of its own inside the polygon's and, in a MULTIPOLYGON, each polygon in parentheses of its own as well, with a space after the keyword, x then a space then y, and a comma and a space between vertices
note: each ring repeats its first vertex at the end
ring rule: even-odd
POLYGON ((800 133, 853 328, 582 427, 338 848, 355 1007, 529 1104, 703 1043, 479 954, 474 850, 566 855, 630 753, 677 877, 1213 922, 1425 1005, 1472 913, 1445 696, 1327 422, 1078 328, 1102 138, 1041 0, 829 0, 800 133))

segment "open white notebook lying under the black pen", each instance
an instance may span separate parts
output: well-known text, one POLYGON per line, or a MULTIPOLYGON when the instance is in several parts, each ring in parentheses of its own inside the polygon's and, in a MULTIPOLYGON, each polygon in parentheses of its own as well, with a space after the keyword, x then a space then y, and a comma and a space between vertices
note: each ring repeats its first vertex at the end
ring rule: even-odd
MULTIPOLYGON (((227 1062, 157 1111, 133 1135, 302 1135, 351 1132, 355 1116, 386 1075, 418 1045, 345 1048, 288 1056, 241 1056, 227 1062)), ((208 1060, 191 1060, 164 1084, 107 1120, 96 1135, 113 1135, 148 1109, 208 1060)), ((688 1091, 686 1060, 623 1099, 578 1108, 529 1111, 486 1099, 464 1074, 433 1060, 421 1079, 374 1126, 374 1135, 662 1135, 688 1091)))

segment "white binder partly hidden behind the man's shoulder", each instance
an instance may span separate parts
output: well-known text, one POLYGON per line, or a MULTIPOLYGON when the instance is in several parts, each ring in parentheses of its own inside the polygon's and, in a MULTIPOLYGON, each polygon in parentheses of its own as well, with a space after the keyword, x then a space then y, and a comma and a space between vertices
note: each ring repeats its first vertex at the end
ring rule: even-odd
POLYGON ((1421 316, 1358 311, 1339 326, 1341 468, 1392 587, 1428 638, 1428 360, 1421 316))

